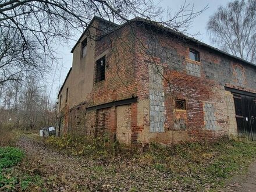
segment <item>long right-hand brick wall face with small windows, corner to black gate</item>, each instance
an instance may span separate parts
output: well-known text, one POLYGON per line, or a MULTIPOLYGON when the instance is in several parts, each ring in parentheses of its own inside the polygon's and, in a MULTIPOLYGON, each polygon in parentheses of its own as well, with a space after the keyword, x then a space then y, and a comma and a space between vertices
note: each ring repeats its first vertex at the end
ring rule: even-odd
POLYGON ((225 86, 256 91, 255 67, 166 34, 156 35, 142 28, 136 32, 143 47, 148 48, 145 51, 140 42, 136 44, 138 127, 141 128, 138 142, 170 144, 180 140, 213 140, 223 135, 236 135, 233 98, 230 93, 227 96, 225 86), (200 62, 189 59, 189 48, 200 53, 200 62), (151 130, 151 123, 155 120, 147 115, 152 111, 150 93, 157 91, 147 83, 152 78, 151 65, 163 67, 164 133, 151 130), (175 99, 184 99, 186 110, 177 111, 175 99))

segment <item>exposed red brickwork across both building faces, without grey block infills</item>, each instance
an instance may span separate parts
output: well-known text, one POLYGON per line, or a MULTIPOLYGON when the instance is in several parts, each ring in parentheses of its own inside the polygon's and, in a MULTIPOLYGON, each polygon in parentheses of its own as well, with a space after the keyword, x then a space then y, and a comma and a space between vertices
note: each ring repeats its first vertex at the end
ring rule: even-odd
MULTIPOLYGON (((224 86, 236 86, 233 77, 233 64, 237 63, 227 56, 218 54, 199 45, 171 38, 168 34, 155 34, 154 31, 129 26, 97 40, 95 61, 106 54, 105 80, 94 81, 91 94, 79 109, 69 112, 70 132, 81 135, 104 136, 115 138, 116 108, 88 111, 90 106, 138 97, 138 103, 131 104, 131 143, 143 144, 150 141, 175 143, 181 140, 212 140, 228 134, 229 125, 226 115, 224 86), (134 36, 135 33, 136 35, 134 36), (149 40, 155 41, 155 52, 149 40), (200 52, 200 62, 189 60, 189 48, 200 52), (200 76, 191 76, 186 71, 187 62, 200 65, 200 76), (164 133, 150 133, 149 110, 149 65, 163 66, 163 90, 165 92, 164 133), (174 129, 175 99, 186 100, 186 111, 182 112, 186 120, 186 129, 174 129), (215 109, 216 130, 205 128, 205 103, 210 102, 215 109), (143 115, 141 115, 143 114, 143 115), (140 119, 141 118, 141 119, 140 119), (143 123, 141 123, 143 122, 143 123)), ((91 63, 95 66, 95 63, 91 63)), ((256 74, 255 69, 244 66, 244 78, 248 79, 244 89, 256 90, 255 83, 249 83, 256 74), (248 68, 248 69, 247 69, 248 68), (252 73, 249 73, 249 71, 252 73), (254 73, 255 72, 255 73, 254 73)), ((94 70, 95 71, 95 70, 94 70)))

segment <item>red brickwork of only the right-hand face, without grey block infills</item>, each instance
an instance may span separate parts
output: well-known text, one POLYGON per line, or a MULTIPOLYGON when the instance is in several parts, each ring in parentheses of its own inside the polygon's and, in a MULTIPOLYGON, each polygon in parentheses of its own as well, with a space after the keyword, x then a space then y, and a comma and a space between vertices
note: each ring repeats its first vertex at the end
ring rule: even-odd
MULTIPOLYGON (((142 27, 141 27, 142 28, 142 27)), ((138 84, 138 100, 143 101, 149 98, 148 95, 148 65, 162 65, 164 67, 164 90, 165 90, 165 133, 150 133, 148 131, 148 125, 140 125, 143 127, 141 132, 141 141, 147 142, 150 140, 159 141, 163 143, 172 143, 180 140, 213 140, 216 137, 227 135, 229 133, 228 117, 226 115, 226 103, 225 103, 225 90, 224 86, 226 83, 235 83, 233 76, 233 59, 229 59, 227 56, 220 54, 209 53, 209 50, 202 49, 197 45, 189 44, 189 42, 176 41, 168 37, 168 35, 156 35, 152 34, 152 31, 145 31, 145 29, 137 30, 137 37, 143 44, 142 47, 148 46, 148 38, 157 36, 155 40, 159 42, 157 49, 160 46, 166 48, 169 52, 173 52, 170 57, 170 61, 175 63, 170 65, 170 63, 163 61, 161 56, 151 55, 145 52, 144 48, 141 48, 140 41, 137 41, 136 48, 136 79, 138 84), (151 36, 151 37, 150 37, 151 36), (195 64, 201 65, 201 77, 195 77, 188 75, 186 72, 186 63, 190 61, 187 59, 189 57, 189 48, 194 48, 200 52, 201 62, 196 62, 195 64), (221 65, 226 63, 226 66, 222 69, 221 65), (209 76, 211 70, 208 69, 209 63, 212 63, 212 67, 219 67, 219 73, 212 70, 212 76, 209 76), (223 70, 227 72, 223 73, 223 70), (229 70, 231 72, 229 72, 229 70), (229 73, 231 75, 229 75, 229 73), (175 99, 185 99, 186 100, 186 130, 175 130, 175 111, 174 111, 174 101, 175 99), (216 130, 207 130, 205 128, 204 121, 204 103, 210 102, 215 107, 216 115, 216 130), (180 138, 172 136, 180 133, 186 133, 187 138, 180 138), (163 140, 164 135, 169 138, 163 140), (173 138, 174 137, 174 138, 173 138)), ((244 66, 246 67, 246 66, 244 66)), ((256 71, 256 70, 255 70, 256 71)), ((247 78, 250 78, 247 77, 247 78)), ((250 87, 250 86, 248 86, 250 87)), ((139 109, 142 110, 142 109, 139 109)))

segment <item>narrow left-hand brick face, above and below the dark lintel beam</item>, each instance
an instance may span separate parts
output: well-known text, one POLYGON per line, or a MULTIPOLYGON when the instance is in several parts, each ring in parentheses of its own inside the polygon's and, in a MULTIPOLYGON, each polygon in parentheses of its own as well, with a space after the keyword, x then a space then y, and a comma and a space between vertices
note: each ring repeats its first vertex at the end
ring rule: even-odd
MULTIPOLYGON (((93 90, 82 104, 69 111, 69 133, 75 136, 116 137, 116 108, 94 109, 90 106, 136 97, 134 38, 129 27, 101 37, 95 42, 93 90), (105 80, 96 81, 96 61, 105 56, 105 80)), ((131 121, 131 119, 130 119, 131 121)), ((127 128, 130 129, 131 128, 127 128)), ((128 133, 127 133, 128 134, 128 133)), ((131 134, 130 136, 131 137, 131 134)))

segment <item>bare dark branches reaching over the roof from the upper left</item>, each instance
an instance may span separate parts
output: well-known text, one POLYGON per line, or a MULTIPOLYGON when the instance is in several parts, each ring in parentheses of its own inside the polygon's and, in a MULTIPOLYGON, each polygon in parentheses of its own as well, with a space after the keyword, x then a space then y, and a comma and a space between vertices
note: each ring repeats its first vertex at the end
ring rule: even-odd
MULTIPOLYGON (((0 3, 0 84, 17 74, 44 72, 63 44, 90 25, 94 15, 118 24, 140 16, 186 30, 200 14, 188 3, 162 22, 152 0, 3 0, 0 3), (55 46, 54 46, 55 45, 55 46)), ((204 9, 203 9, 204 10, 204 9)), ((95 27, 95 26, 94 26, 95 27)))

